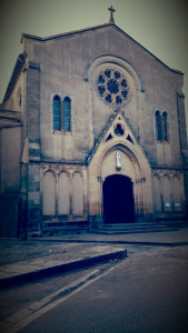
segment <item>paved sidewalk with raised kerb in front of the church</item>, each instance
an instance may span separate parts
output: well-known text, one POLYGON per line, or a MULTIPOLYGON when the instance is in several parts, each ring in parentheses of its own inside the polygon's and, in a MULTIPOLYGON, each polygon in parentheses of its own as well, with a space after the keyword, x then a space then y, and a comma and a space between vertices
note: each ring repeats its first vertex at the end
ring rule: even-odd
POLYGON ((101 235, 95 233, 27 241, 0 240, 0 285, 56 274, 95 262, 127 256, 126 244, 188 245, 188 229, 171 232, 101 235))

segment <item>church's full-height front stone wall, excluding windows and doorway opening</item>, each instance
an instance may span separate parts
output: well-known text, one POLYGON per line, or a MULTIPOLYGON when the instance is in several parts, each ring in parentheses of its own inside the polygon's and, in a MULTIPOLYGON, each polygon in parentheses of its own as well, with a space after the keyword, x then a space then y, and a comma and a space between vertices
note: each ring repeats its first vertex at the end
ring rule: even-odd
POLYGON ((187 139, 182 98, 178 98, 177 103, 177 93, 180 97, 182 91, 182 74, 170 70, 113 24, 42 41, 27 36, 23 39, 29 60, 28 208, 31 224, 37 225, 41 216, 63 221, 97 216, 101 221, 101 184, 108 174, 117 173, 111 168, 119 149, 122 152, 120 172, 135 184, 137 215, 152 215, 152 186, 160 190, 157 199, 154 193, 155 211, 161 204, 160 213, 169 212, 169 202, 176 212, 179 201, 185 206, 182 173, 181 199, 175 194, 178 178, 174 178, 169 192, 162 190, 168 188, 167 175, 160 179, 160 184, 158 174, 151 182, 151 168, 174 170, 175 175, 177 169, 180 172, 184 169, 181 149, 187 149, 187 139), (115 135, 115 128, 110 129, 117 105, 105 102, 97 87, 99 74, 108 68, 121 72, 128 82, 128 99, 121 107, 126 122, 121 117, 119 120, 127 135, 125 133, 121 140, 115 135), (62 120, 63 100, 68 97, 71 101, 69 132, 63 128, 53 130, 55 95, 60 99, 62 120), (157 110, 168 114, 168 140, 156 140, 157 110))

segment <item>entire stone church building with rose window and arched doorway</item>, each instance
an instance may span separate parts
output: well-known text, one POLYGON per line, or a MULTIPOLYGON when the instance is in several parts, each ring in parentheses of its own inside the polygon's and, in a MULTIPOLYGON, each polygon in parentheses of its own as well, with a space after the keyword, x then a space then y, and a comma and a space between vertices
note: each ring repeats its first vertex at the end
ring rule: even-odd
POLYGON ((0 105, 2 234, 186 219, 184 74, 112 21, 21 42, 0 105))

